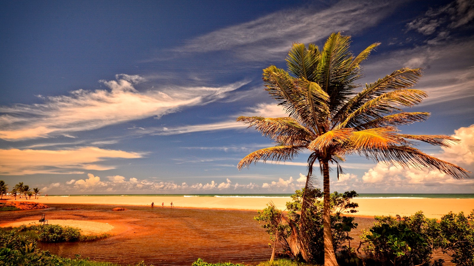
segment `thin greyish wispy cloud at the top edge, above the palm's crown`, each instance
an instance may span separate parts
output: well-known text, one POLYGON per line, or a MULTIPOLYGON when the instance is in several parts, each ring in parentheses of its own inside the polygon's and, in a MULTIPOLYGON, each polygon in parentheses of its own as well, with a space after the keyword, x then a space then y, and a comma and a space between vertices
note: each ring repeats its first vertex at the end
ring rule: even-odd
POLYGON ((177 52, 232 50, 246 61, 281 57, 292 42, 315 42, 335 31, 357 33, 376 25, 402 1, 338 1, 328 8, 308 6, 274 12, 188 41, 177 52))

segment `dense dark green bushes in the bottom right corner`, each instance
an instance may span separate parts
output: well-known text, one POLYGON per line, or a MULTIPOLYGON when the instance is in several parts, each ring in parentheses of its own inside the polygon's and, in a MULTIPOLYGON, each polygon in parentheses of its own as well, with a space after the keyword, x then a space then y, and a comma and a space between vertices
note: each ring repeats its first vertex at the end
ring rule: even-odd
POLYGON ((432 261, 433 254, 445 253, 457 266, 474 266, 474 210, 467 216, 448 213, 440 222, 422 212, 403 217, 375 216, 375 220, 359 245, 368 255, 362 258, 374 265, 439 266, 444 260, 432 261))

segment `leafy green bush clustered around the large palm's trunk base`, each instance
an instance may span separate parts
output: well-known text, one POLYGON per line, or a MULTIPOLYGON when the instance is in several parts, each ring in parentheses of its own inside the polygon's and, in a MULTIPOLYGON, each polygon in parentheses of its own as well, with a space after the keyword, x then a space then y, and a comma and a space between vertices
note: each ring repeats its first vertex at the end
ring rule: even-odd
MULTIPOLYGON (((357 212, 356 208, 358 204, 351 202, 356 196, 357 193, 355 191, 346 191, 344 193, 335 191, 330 194, 331 239, 333 241, 332 246, 335 250, 352 250, 350 247, 345 246, 344 243, 346 241, 350 243, 350 240, 353 240, 353 238, 348 235, 348 232, 355 229, 357 223, 354 222, 353 216, 345 216, 344 214, 357 212)), ((300 235, 301 230, 305 230, 306 234, 310 236, 310 244, 305 246, 305 252, 311 257, 309 262, 323 264, 324 204, 320 200, 323 197, 323 193, 319 188, 314 188, 307 192, 304 192, 303 189, 297 190, 291 197, 292 201, 286 203, 286 214, 282 210, 275 208, 273 204, 269 204, 267 208, 259 211, 259 215, 255 216, 254 219, 258 222, 265 223, 262 227, 265 228, 269 234, 273 242, 273 248, 279 243, 283 250, 283 252, 280 253, 282 256, 298 257, 300 255, 294 251, 294 247, 296 246, 294 241, 298 241, 296 236, 300 235), (305 210, 308 221, 304 227, 300 227, 302 201, 305 193, 311 195, 311 197, 308 198, 309 204, 305 210), (286 218, 287 222, 280 222, 280 217, 285 215, 288 217, 286 218)))

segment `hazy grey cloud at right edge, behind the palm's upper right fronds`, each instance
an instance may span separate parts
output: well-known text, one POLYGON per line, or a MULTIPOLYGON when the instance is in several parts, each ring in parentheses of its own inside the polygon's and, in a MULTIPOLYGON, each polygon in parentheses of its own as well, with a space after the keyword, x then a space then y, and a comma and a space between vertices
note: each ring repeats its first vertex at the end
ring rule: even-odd
MULTIPOLYGON (((437 104, 474 96, 474 39, 467 38, 443 45, 421 45, 380 55, 365 62, 367 78, 378 78, 402 67, 422 68, 423 77, 415 86, 428 93, 421 105, 437 104), (447 97, 449 95, 449 97, 447 97)), ((472 113, 469 108, 462 110, 472 113)))

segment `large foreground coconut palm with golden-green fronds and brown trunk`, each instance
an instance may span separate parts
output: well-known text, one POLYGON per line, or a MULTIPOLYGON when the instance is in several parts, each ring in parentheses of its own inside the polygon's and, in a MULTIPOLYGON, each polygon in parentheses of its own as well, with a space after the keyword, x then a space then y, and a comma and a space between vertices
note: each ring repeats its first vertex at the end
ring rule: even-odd
MULTIPOLYGON (((305 188, 315 182, 313 164, 319 163, 324 192, 324 261, 337 265, 330 231, 329 162, 337 175, 346 155, 358 153, 376 162, 412 168, 437 168, 456 178, 468 177, 467 170, 414 148, 414 141, 449 147, 459 140, 445 135, 409 135, 398 133, 396 126, 424 121, 429 113, 403 112, 403 106, 415 106, 427 95, 410 89, 421 77, 420 69, 402 68, 390 75, 365 84, 357 93, 356 80, 362 77, 360 63, 379 44, 368 46, 358 55, 349 52, 350 36, 333 33, 322 50, 309 44, 293 44, 286 59, 289 72, 269 66, 263 71, 265 90, 289 117, 264 118, 240 116, 237 121, 254 126, 274 147, 254 151, 242 159, 237 168, 249 167, 258 160, 292 160, 302 151, 310 151, 305 188)), ((305 189, 301 207, 301 245, 307 246, 305 189)), ((305 260, 310 259, 301 253, 305 260)))

